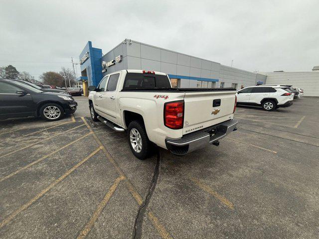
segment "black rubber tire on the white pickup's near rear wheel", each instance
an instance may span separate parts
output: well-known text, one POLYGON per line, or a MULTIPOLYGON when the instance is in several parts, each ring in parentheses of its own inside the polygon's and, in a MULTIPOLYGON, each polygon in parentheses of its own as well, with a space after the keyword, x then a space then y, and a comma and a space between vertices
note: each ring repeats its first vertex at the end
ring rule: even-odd
MULTIPOLYGON (((148 156, 150 156, 150 154, 152 152, 153 145, 152 145, 152 143, 151 143, 151 141, 146 133, 144 123, 141 120, 135 120, 129 124, 128 142, 129 142, 129 145, 130 145, 130 148, 131 148, 133 154, 137 158, 143 160, 143 159, 146 159, 148 156), (140 152, 139 152, 140 147, 138 146, 137 149, 134 149, 132 142, 131 142, 131 133, 134 132, 134 129, 138 131, 138 133, 140 134, 140 139, 142 140, 142 147, 141 147, 140 152)), ((138 143, 136 143, 136 144, 138 144, 138 143)))

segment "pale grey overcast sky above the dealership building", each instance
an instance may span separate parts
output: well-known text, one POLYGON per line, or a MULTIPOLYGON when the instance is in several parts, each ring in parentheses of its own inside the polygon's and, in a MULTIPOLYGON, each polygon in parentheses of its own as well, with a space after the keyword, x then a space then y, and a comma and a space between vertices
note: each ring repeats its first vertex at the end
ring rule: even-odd
POLYGON ((0 66, 36 78, 125 38, 248 71, 319 65, 319 0, 0 0, 0 24, 0 66))

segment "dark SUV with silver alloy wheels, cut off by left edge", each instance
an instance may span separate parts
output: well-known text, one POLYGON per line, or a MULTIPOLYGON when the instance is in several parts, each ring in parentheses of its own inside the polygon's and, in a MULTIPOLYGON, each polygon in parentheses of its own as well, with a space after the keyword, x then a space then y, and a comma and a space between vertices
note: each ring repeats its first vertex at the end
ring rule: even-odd
POLYGON ((76 111, 72 96, 43 92, 19 81, 0 80, 0 118, 41 117, 59 120, 76 111))

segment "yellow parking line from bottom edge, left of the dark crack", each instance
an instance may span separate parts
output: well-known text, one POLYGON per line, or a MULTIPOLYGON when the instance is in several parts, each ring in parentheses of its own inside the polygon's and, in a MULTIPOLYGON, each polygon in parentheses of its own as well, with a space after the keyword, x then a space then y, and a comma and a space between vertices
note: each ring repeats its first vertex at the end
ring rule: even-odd
POLYGON ((92 230, 94 227, 95 222, 98 220, 98 217, 101 215, 103 209, 105 208, 106 204, 109 202, 110 198, 112 197, 113 193, 119 186, 120 182, 124 179, 123 176, 118 177, 114 184, 111 186, 109 191, 105 194, 103 200, 100 202, 98 207, 96 208, 95 212, 93 213, 92 217, 88 221, 88 223, 85 225, 84 229, 81 231, 79 236, 77 237, 78 239, 83 239, 85 238, 89 232, 92 230))

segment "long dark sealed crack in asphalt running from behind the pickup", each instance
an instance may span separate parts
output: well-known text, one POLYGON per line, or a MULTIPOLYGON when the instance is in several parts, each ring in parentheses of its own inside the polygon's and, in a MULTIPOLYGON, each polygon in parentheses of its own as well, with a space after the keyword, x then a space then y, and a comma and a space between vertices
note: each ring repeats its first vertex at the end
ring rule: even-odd
POLYGON ((156 159, 156 164, 154 167, 154 172, 153 172, 153 177, 150 183, 150 187, 148 190, 148 193, 146 195, 146 198, 144 200, 144 203, 140 206, 138 214, 135 218, 135 223, 134 223, 134 236, 133 239, 141 239, 142 236, 142 226, 143 226, 143 221, 144 221, 144 215, 145 212, 149 206, 149 202, 152 198, 154 189, 157 185, 158 179, 160 175, 160 152, 158 151, 157 159, 156 159))

